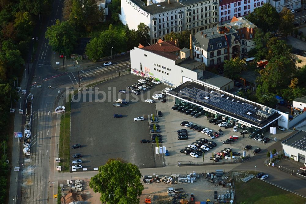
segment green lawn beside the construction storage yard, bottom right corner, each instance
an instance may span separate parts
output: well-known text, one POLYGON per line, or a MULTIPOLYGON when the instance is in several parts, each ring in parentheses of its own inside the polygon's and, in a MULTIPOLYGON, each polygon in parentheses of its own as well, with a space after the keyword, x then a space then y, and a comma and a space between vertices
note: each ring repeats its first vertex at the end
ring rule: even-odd
POLYGON ((248 182, 235 181, 236 203, 305 203, 306 198, 278 188, 260 179, 252 178, 248 182))

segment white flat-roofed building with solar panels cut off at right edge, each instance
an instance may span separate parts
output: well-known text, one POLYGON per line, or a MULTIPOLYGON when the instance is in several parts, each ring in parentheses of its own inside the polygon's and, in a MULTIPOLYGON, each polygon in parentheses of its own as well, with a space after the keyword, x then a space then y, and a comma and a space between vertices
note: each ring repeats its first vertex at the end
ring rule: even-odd
POLYGON ((306 132, 304 130, 294 131, 288 139, 282 141, 282 148, 285 156, 305 164, 306 132))

